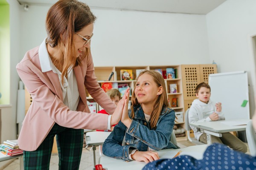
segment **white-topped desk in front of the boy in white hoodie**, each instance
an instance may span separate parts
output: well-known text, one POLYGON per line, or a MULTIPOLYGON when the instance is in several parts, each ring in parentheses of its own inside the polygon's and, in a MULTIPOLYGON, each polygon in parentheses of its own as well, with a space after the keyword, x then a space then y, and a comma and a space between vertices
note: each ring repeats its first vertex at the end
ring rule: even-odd
POLYGON ((189 125, 198 127, 201 132, 207 135, 207 144, 212 144, 212 136, 221 137, 221 133, 243 131, 251 119, 230 119, 211 122, 194 122, 189 125))

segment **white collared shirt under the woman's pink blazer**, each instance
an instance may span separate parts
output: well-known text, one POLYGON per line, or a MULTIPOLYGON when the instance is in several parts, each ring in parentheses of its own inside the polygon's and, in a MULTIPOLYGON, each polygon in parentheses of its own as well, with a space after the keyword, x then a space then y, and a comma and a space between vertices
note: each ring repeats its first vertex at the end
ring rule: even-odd
POLYGON ((52 60, 50 59, 49 54, 47 52, 45 41, 46 39, 44 39, 44 41, 42 42, 38 50, 39 61, 40 61, 42 72, 47 72, 52 70, 55 74, 58 74, 58 78, 60 81, 61 90, 63 94, 63 103, 71 111, 76 111, 80 96, 79 96, 79 91, 77 87, 75 73, 72 67, 70 67, 68 69, 67 78, 64 77, 64 81, 62 85, 61 72, 58 70, 58 68, 55 67, 55 65, 53 65, 52 60))

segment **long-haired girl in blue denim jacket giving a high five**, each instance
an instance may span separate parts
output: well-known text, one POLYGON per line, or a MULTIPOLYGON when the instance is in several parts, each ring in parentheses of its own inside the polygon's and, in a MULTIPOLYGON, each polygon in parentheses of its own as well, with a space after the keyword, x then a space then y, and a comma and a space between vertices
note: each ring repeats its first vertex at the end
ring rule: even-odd
POLYGON ((134 87, 131 109, 126 101, 121 121, 102 151, 105 156, 125 161, 154 161, 159 156, 152 150, 179 148, 170 142, 175 111, 169 106, 163 76, 157 71, 142 71, 134 87))

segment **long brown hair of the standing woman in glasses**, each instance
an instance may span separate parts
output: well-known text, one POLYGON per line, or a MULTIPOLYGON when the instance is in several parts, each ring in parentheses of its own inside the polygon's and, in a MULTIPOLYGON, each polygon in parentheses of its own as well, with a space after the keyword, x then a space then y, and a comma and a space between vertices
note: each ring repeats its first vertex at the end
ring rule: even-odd
POLYGON ((74 33, 94 23, 96 17, 89 6, 77 0, 58 0, 48 11, 46 17, 47 43, 51 47, 58 46, 61 58, 53 61, 54 65, 62 67, 63 78, 70 66, 81 65, 81 61, 90 55, 90 49, 85 49, 82 57, 76 57, 74 33))

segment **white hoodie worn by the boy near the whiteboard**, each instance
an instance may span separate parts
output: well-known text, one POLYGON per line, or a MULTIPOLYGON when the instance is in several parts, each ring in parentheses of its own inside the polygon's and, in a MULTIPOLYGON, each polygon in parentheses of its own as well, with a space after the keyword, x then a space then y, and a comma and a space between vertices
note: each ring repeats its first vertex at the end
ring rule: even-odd
MULTIPOLYGON (((214 113, 215 111, 215 102, 212 102, 209 100, 209 102, 206 104, 204 102, 201 102, 199 99, 195 99, 192 102, 192 105, 189 109, 189 123, 193 122, 210 122, 212 121, 209 118, 209 115, 214 113)), ((218 120, 224 120, 224 113, 218 112, 218 120)), ((190 126, 191 129, 194 131, 195 139, 199 140, 200 136, 203 134, 203 132, 200 132, 199 128, 190 126)))

